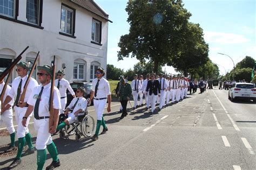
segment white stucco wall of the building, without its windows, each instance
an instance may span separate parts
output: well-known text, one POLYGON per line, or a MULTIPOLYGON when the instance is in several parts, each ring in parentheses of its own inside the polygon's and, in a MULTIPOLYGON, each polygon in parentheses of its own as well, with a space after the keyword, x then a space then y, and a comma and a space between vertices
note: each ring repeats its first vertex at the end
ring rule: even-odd
MULTIPOLYGON (((0 14, 1 15, 1 14, 0 14)), ((17 20, 27 22, 26 1, 19 1, 17 20)), ((56 56, 57 70, 65 64, 65 79, 69 82, 90 82, 91 65, 98 65, 106 70, 108 21, 95 13, 70 1, 44 0, 42 12, 43 29, 0 18, 0 59, 15 59, 26 46, 28 50, 21 61, 28 61, 39 53, 39 65, 50 65, 53 55, 56 56), (75 9, 75 37, 60 34, 60 12, 62 3, 75 9), (92 43, 92 19, 102 23, 100 44, 92 43), (83 79, 74 79, 74 65, 84 65, 83 79)), ((94 74, 94 72, 93 72, 94 74)), ((16 77, 16 72, 12 73, 16 77)))

